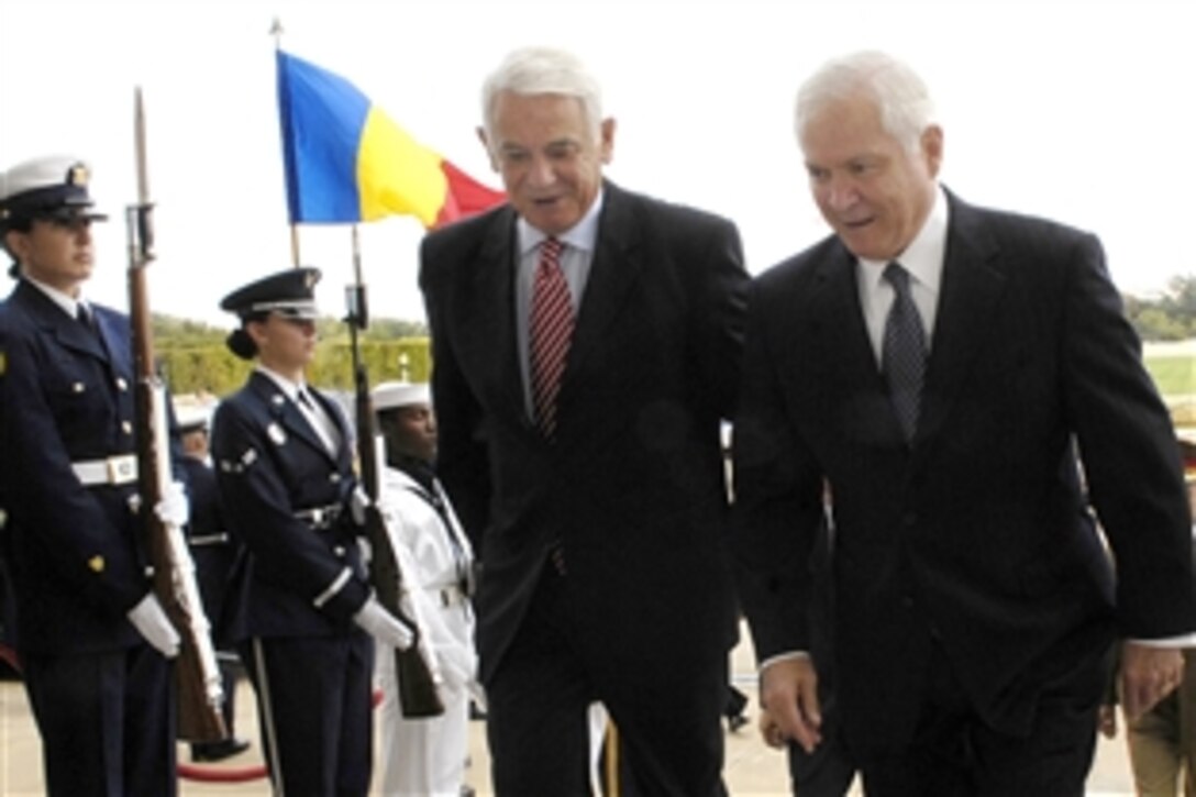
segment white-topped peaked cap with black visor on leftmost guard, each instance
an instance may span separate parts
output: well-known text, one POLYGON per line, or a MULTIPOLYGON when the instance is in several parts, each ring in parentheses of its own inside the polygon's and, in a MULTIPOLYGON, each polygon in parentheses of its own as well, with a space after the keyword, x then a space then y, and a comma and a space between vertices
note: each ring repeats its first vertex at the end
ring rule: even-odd
POLYGON ((0 229, 35 219, 106 219, 91 212, 90 182, 87 164, 71 156, 33 158, 0 172, 0 229))

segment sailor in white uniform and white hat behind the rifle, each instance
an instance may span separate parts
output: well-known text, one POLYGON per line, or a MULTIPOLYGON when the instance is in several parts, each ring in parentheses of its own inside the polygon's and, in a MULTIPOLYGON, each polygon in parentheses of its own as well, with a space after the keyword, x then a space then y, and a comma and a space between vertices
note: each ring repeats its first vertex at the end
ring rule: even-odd
POLYGON ((445 711, 405 719, 393 652, 379 649, 382 792, 389 797, 464 793, 469 701, 480 695, 469 601, 474 552, 433 475, 437 425, 428 385, 384 382, 373 390, 386 467, 378 504, 411 590, 420 632, 439 671, 445 711))

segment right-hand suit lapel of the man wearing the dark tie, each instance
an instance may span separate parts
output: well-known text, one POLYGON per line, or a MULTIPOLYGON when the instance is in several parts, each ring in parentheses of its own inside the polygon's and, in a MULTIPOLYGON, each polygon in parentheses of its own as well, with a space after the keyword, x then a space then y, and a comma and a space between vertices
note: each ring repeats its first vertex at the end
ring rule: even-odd
POLYGON ((947 197, 947 251, 915 444, 941 430, 1005 291, 999 248, 986 233, 981 213, 950 193, 947 197))

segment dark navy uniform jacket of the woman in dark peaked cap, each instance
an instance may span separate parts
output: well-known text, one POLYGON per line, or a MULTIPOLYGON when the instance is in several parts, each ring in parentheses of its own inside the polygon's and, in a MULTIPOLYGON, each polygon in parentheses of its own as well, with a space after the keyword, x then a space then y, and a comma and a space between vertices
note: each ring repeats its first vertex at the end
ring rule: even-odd
POLYGON ((349 633, 370 595, 358 546, 361 528, 347 501, 353 486, 350 431, 340 408, 309 388, 344 444, 329 454, 294 402, 254 372, 220 403, 212 422, 212 456, 224 516, 244 546, 225 607, 225 635, 309 637, 349 633), (341 522, 313 529, 301 510, 343 506, 341 522), (340 583, 348 570, 348 579, 340 583), (327 598, 315 606, 317 597, 327 598))

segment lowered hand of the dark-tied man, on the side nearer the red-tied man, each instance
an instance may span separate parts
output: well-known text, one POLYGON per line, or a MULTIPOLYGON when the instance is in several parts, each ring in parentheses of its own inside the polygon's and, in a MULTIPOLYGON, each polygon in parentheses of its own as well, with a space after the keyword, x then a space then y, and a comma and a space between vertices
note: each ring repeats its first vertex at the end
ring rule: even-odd
POLYGON ((807 656, 773 662, 761 673, 759 699, 767 714, 761 718, 765 742, 780 747, 789 740, 813 753, 822 742, 822 710, 818 706, 818 673, 807 656))

